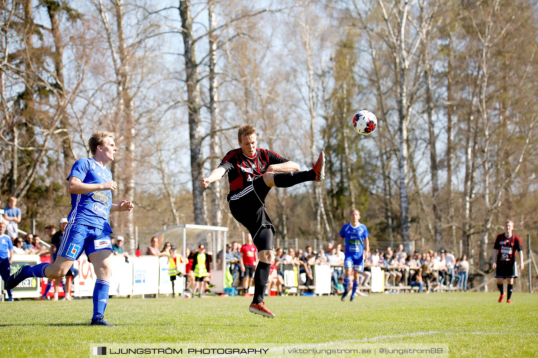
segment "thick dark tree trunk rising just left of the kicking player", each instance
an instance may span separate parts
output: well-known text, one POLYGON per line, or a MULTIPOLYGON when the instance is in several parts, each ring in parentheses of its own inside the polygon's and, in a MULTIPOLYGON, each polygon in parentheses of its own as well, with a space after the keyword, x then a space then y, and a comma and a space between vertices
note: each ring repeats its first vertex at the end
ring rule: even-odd
POLYGON ((204 225, 202 178, 202 120, 200 118, 200 84, 198 63, 196 62, 193 18, 190 14, 190 0, 179 2, 179 14, 183 29, 183 46, 185 47, 185 81, 187 83, 187 105, 189 110, 190 174, 193 184, 194 222, 204 225))

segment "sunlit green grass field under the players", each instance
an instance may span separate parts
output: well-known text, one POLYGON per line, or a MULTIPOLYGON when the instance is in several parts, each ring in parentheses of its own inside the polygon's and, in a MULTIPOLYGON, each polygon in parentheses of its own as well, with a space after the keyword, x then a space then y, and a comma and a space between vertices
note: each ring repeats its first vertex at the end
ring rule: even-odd
POLYGON ((0 305, 0 356, 88 357, 94 343, 443 343, 449 356, 537 357, 538 295, 515 293, 374 294, 268 297, 277 315, 247 312, 247 297, 111 298, 105 318, 90 327, 91 299, 19 301, 0 305))

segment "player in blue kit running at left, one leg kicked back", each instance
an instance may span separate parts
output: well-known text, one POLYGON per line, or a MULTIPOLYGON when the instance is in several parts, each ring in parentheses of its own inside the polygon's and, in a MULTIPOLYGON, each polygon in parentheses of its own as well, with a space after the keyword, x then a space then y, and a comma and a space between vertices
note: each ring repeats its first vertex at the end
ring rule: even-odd
POLYGON ((91 325, 98 326, 113 326, 103 318, 114 252, 110 242, 109 215, 111 211, 131 211, 133 208, 132 202, 125 200, 112 204, 112 190, 117 184, 112 180, 107 163, 114 160, 118 150, 114 138, 114 133, 94 131, 88 140, 93 158, 81 158, 73 164, 67 178, 71 212, 54 264, 23 265, 6 283, 6 288, 12 289, 28 277, 60 279, 69 271, 73 261, 86 252, 97 275, 91 325))

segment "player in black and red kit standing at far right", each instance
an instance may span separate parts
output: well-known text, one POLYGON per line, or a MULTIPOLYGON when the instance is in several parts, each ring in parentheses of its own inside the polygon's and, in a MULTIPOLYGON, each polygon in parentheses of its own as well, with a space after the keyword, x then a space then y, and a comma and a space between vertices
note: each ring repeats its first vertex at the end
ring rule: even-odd
POLYGON ((493 246, 493 262, 491 267, 497 269, 495 277, 497 277, 497 287, 501 293, 499 302, 502 302, 505 296, 502 283, 506 279, 508 282, 508 297, 506 303, 512 303, 512 290, 514 288, 514 277, 518 277, 518 265, 516 263, 516 253, 519 252, 520 269, 523 270, 523 247, 519 236, 513 235, 514 223, 512 220, 505 222, 505 232, 497 235, 495 245, 493 246))

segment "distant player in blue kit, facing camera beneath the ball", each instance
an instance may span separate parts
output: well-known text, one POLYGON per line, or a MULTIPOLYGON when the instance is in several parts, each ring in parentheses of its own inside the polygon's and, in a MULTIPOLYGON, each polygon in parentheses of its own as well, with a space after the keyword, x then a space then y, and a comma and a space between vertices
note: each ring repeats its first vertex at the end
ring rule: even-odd
POLYGON ((352 302, 355 299, 355 291, 359 287, 359 274, 364 271, 364 252, 370 250, 370 242, 368 240, 369 232, 366 225, 359 223, 360 212, 357 209, 352 209, 350 213, 351 222, 345 224, 340 230, 340 239, 335 244, 342 243, 345 239, 345 259, 344 259, 344 293, 342 301, 348 296, 349 278, 354 272, 353 289, 351 291, 352 302))

